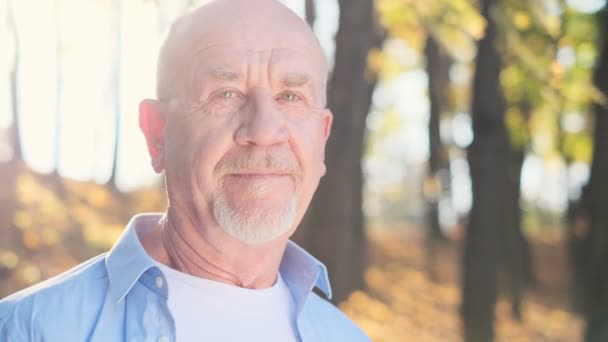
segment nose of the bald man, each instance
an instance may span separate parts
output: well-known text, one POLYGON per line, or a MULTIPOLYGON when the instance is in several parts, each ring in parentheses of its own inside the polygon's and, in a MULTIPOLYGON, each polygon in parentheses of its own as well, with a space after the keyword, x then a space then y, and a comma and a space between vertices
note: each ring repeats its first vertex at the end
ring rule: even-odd
POLYGON ((239 145, 272 146, 288 140, 285 114, 268 90, 253 89, 236 132, 239 145))

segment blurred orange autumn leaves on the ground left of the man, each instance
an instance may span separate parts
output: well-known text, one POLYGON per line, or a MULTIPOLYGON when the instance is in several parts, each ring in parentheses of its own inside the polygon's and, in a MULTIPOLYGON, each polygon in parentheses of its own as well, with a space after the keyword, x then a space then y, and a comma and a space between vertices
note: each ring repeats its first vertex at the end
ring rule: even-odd
POLYGON ((0 297, 107 251, 132 215, 165 208, 160 188, 118 194, 104 185, 58 181, 18 174, 14 227, 2 232, 7 238, 0 244, 0 276, 6 278, 0 297))

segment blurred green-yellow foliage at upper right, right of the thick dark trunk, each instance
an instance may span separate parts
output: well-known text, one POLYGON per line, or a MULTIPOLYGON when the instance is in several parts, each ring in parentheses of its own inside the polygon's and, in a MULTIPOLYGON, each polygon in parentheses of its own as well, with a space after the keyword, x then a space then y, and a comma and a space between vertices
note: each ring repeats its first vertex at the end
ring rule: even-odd
POLYGON ((590 82, 597 53, 593 17, 557 0, 501 4, 495 17, 512 145, 543 158, 589 163, 588 107, 603 101, 590 82))

